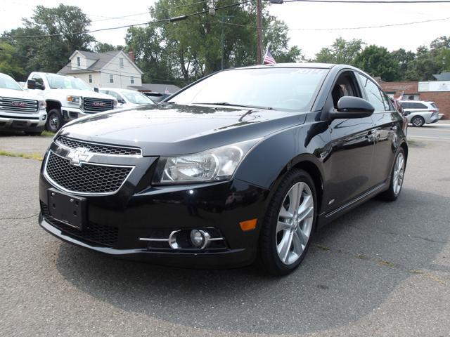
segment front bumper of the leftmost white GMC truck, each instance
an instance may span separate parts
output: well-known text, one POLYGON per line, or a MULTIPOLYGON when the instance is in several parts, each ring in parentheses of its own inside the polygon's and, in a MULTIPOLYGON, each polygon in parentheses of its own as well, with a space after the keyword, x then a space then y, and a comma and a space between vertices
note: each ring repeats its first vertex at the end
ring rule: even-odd
POLYGON ((41 131, 44 129, 46 118, 45 110, 39 110, 34 114, 0 111, 0 130, 41 131))

